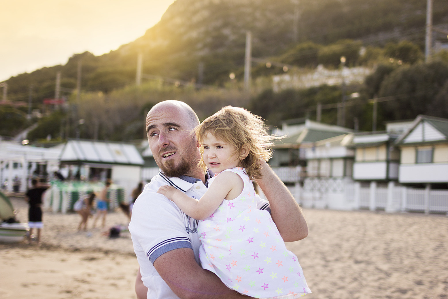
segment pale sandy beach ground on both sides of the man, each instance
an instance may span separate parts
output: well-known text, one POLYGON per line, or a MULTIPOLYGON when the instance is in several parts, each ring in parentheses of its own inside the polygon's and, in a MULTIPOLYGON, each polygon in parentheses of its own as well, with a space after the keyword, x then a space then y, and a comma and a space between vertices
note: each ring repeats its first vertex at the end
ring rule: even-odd
MULTIPOLYGON (((26 221, 23 198, 11 198, 26 221)), ((299 258, 308 299, 448 298, 448 217, 304 209, 309 235, 287 243, 299 258)), ((136 298, 131 238, 78 232, 78 214, 45 211, 42 246, 0 243, 0 298, 136 298)), ((110 212, 107 228, 127 225, 110 212)))

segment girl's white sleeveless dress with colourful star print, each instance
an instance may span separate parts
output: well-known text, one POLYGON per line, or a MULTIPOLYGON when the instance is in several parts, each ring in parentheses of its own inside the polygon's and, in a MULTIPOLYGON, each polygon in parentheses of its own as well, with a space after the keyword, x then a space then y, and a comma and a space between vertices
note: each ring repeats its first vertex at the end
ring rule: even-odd
POLYGON ((245 170, 224 171, 237 173, 244 188, 237 198, 224 199, 210 217, 199 221, 202 268, 215 273, 229 288, 255 298, 297 298, 311 293, 297 256, 286 249, 271 215, 257 209, 254 186, 245 170))

